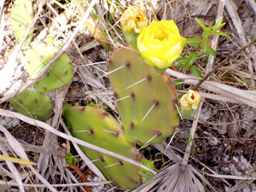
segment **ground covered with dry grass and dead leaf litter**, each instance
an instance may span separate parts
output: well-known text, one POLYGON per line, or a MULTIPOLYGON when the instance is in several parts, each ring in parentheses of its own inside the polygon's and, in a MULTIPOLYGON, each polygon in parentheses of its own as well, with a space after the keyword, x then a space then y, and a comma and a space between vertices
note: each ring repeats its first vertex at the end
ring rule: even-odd
MULTIPOLYGON (((203 31, 195 17, 206 26, 213 26, 223 16, 226 24, 221 32, 230 36, 209 38, 208 44, 216 50, 216 57, 202 55, 193 63, 202 75, 211 73, 198 89, 198 79, 190 68, 177 67, 176 62, 175 67, 166 71, 173 80, 183 80, 177 85, 177 95, 196 89, 201 94, 201 104, 194 119, 180 119, 173 137, 140 150, 145 159, 154 161, 157 175, 137 191, 256 191, 253 174, 256 166, 256 48, 255 42, 251 44, 256 35, 256 3, 253 0, 101 0, 96 1, 93 9, 90 3, 95 1, 86 1, 83 9, 77 1, 35 1, 33 17, 38 20, 32 28, 32 41, 19 55, 15 54, 19 42, 10 14, 15 1, 1 3, 0 151, 37 163, 32 167, 2 160, 1 191, 22 191, 21 183, 27 184, 23 191, 52 191, 55 184, 61 184, 55 188, 58 191, 85 191, 83 187, 71 186, 81 180, 76 172, 63 166, 64 155, 69 152, 75 155, 76 166, 89 182, 96 184, 91 187, 92 191, 124 191, 101 183, 102 179, 96 176, 97 168, 86 166, 86 156, 79 151, 61 121, 61 110, 64 102, 81 106, 93 103, 118 115, 108 75, 103 75, 108 73, 108 59, 113 49, 125 44, 119 19, 129 5, 142 8, 150 21, 174 20, 184 38, 201 38, 203 31), (90 11, 90 18, 97 26, 103 26, 112 50, 104 49, 83 25, 86 11, 90 11), (26 49, 49 42, 67 53, 73 64, 74 78, 68 86, 48 93, 55 103, 55 113, 44 124, 12 113, 15 109, 8 101, 17 91, 38 80, 30 80, 26 73, 22 60, 26 49), (219 63, 223 64, 218 66, 219 63), (9 79, 3 79, 4 67, 11 65, 14 72, 7 74, 9 79), (218 68, 214 69, 216 66, 218 68), (11 84, 3 84, 4 80, 11 84), (37 186, 42 183, 44 187, 37 186), (173 183, 177 185, 172 186, 173 183)), ((183 56, 194 51, 185 46, 183 56)))

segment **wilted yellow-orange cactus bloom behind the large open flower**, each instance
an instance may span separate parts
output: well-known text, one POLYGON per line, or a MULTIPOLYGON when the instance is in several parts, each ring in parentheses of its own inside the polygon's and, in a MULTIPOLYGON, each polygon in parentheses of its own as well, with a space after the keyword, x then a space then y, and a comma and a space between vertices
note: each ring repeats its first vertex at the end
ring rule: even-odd
POLYGON ((126 9, 120 22, 123 32, 126 33, 139 33, 141 28, 148 26, 148 18, 143 10, 136 7, 126 9))

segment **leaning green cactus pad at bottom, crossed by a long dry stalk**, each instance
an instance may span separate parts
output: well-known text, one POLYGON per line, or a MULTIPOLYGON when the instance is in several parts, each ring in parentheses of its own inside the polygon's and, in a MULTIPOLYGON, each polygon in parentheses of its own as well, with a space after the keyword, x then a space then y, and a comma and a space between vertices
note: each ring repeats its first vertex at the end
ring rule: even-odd
MULTIPOLYGON (((73 137, 133 160, 140 160, 137 148, 126 141, 119 122, 110 114, 103 113, 102 108, 66 105, 62 115, 66 125, 71 126, 73 137)), ((80 148, 90 160, 95 160, 95 165, 103 175, 120 188, 135 189, 141 183, 139 167, 90 148, 80 148)))

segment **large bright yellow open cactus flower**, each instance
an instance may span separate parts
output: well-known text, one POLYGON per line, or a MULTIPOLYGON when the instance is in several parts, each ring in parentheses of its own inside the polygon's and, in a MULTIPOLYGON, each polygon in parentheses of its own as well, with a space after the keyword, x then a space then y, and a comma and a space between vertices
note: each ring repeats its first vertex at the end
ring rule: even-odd
POLYGON ((167 68, 181 55, 185 41, 173 20, 153 20, 141 30, 137 48, 148 65, 167 68))

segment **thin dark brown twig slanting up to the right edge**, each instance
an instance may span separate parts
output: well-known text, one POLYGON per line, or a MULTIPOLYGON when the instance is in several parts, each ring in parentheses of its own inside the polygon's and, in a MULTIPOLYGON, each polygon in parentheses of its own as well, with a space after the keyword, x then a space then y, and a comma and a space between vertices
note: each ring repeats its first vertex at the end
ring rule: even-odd
POLYGON ((199 86, 200 86, 204 81, 206 81, 206 80, 210 77, 210 75, 212 75, 212 73, 218 71, 219 67, 222 67, 224 64, 226 64, 226 63, 230 60, 231 57, 233 57, 234 55, 237 55, 238 53, 240 53, 240 52, 243 51, 244 49, 247 49, 248 47, 250 47, 250 46, 253 45, 253 44, 255 44, 255 41, 252 41, 250 44, 247 44, 246 46, 242 47, 241 49, 237 49, 237 50, 234 51, 232 54, 228 55, 228 56, 224 59, 224 61, 221 61, 220 63, 218 63, 218 65, 215 66, 215 67, 213 67, 212 70, 211 70, 209 73, 207 73, 203 79, 200 79, 200 80, 199 80, 198 84, 195 85, 194 90, 198 90, 199 86))

